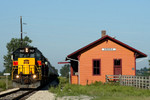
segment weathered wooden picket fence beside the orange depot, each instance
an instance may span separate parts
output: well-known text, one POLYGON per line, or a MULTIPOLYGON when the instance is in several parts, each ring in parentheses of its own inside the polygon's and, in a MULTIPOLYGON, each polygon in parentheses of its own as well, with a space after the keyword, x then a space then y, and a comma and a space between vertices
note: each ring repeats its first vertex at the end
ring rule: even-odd
POLYGON ((107 82, 119 82, 120 85, 150 89, 150 76, 106 75, 107 82))

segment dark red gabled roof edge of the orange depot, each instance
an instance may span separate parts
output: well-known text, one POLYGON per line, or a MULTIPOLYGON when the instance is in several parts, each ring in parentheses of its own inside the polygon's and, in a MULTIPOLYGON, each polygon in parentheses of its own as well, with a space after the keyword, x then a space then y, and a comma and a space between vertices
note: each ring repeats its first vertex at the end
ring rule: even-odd
MULTIPOLYGON (((99 44, 99 43, 103 42, 103 41, 106 40, 106 39, 112 40, 113 42, 115 42, 115 43, 117 43, 117 44, 119 44, 119 45, 121 45, 121 46, 123 46, 123 47, 125 47, 125 48, 127 48, 127 49, 129 49, 129 50, 131 50, 131 51, 133 51, 133 52, 135 52, 135 53, 138 55, 136 58, 147 57, 147 55, 144 54, 144 53, 142 53, 141 51, 139 51, 139 50, 137 50, 137 49, 134 49, 134 48, 130 47, 129 45, 127 45, 127 44, 125 44, 125 43, 123 43, 123 42, 120 42, 119 40, 114 39, 114 38, 112 38, 112 37, 110 37, 110 36, 108 36, 108 35, 106 35, 106 36, 104 36, 104 37, 102 37, 102 38, 100 38, 100 39, 98 39, 98 40, 96 40, 96 41, 94 41, 94 42, 88 44, 87 46, 85 46, 85 47, 83 47, 83 48, 81 48, 81 49, 79 49, 79 50, 77 50, 77 51, 71 53, 71 54, 68 55, 67 57, 68 57, 68 58, 76 58, 76 57, 78 57, 78 55, 80 55, 82 52, 84 52, 84 51, 86 51, 86 50, 92 48, 92 47, 95 46, 96 44, 99 44)), ((67 60, 67 58, 66 58, 66 60, 67 60)))

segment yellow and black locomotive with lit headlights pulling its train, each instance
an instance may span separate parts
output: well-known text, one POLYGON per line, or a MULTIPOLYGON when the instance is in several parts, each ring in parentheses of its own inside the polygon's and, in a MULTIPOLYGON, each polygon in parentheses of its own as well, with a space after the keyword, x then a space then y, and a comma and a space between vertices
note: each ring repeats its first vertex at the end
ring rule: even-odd
POLYGON ((18 48, 11 59, 13 87, 37 88, 58 77, 50 62, 35 47, 18 48))

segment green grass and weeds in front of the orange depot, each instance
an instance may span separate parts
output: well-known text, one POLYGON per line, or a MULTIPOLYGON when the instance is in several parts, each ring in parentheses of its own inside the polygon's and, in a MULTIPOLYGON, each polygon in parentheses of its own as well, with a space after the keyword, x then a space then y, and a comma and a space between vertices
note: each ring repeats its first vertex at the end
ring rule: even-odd
POLYGON ((150 100, 150 90, 120 86, 118 83, 95 82, 90 85, 71 85, 68 79, 59 77, 60 84, 49 90, 57 97, 87 95, 93 100, 150 100))

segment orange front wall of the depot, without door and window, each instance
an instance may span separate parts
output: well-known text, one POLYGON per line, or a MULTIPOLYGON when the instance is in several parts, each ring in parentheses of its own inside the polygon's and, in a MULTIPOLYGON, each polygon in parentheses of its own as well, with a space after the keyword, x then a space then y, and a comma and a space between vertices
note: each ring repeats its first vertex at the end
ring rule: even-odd
POLYGON ((114 59, 122 59, 122 75, 135 75, 134 52, 107 40, 80 55, 80 84, 105 82, 105 75, 114 74, 114 59), (102 48, 116 48, 116 51, 102 51, 102 48), (93 59, 101 60, 100 75, 93 75, 93 59))

